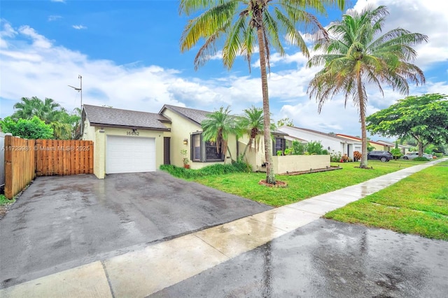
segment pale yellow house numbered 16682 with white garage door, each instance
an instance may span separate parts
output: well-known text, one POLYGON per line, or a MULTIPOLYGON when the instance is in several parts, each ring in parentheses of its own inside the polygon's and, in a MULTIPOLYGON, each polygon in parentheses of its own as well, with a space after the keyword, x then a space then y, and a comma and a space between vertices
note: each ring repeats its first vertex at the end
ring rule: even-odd
MULTIPOLYGON (((230 163, 244 151, 248 136, 231 135, 228 152, 216 151, 216 143, 202 139, 202 120, 211 112, 165 105, 159 113, 129 111, 103 106, 83 106, 83 139, 94 142, 94 174, 155 171, 161 164, 183 166, 181 150, 187 150, 191 169, 214 163, 230 163)), ((286 149, 286 134, 272 132, 273 154, 286 149)), ((254 146, 254 145, 253 145, 254 146)), ((260 150, 248 150, 246 159, 255 171, 265 161, 260 150)))

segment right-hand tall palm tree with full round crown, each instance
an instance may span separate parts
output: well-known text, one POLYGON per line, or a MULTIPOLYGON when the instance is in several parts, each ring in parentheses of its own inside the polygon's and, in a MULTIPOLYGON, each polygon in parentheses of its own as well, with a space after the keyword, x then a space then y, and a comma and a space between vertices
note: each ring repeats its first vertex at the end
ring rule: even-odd
POLYGON ((318 101, 319 113, 325 101, 339 92, 344 92, 345 105, 351 97, 358 107, 362 139, 361 168, 367 167, 365 83, 376 85, 384 96, 381 83, 407 94, 407 80, 416 85, 425 82, 423 71, 410 62, 416 58, 412 45, 426 42, 428 36, 402 28, 377 36, 387 15, 385 6, 344 15, 342 21, 328 28, 334 37, 322 38, 316 43, 315 50, 323 50, 324 54, 316 55, 308 62, 308 66, 324 66, 308 87, 309 98, 316 97, 318 101))

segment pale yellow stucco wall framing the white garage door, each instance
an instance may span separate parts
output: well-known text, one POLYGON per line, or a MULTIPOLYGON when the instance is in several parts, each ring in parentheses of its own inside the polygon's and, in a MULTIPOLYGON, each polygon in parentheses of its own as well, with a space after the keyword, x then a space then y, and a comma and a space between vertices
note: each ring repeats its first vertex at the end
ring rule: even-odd
MULTIPOLYGON (((88 122, 87 122, 88 124, 88 122)), ((106 146, 108 136, 125 136, 129 138, 154 138, 155 140, 155 166, 159 168, 163 164, 163 137, 164 132, 138 129, 139 136, 128 136, 127 132, 132 129, 113 127, 92 127, 86 126, 84 139, 94 141, 94 167, 93 173, 97 178, 103 179, 106 176, 106 146)))

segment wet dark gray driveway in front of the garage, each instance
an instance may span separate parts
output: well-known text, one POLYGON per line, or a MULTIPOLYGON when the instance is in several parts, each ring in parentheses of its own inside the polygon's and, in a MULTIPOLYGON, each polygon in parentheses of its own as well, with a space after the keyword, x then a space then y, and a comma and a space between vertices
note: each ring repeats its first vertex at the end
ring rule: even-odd
POLYGON ((0 222, 0 288, 271 208, 161 171, 38 177, 0 222))

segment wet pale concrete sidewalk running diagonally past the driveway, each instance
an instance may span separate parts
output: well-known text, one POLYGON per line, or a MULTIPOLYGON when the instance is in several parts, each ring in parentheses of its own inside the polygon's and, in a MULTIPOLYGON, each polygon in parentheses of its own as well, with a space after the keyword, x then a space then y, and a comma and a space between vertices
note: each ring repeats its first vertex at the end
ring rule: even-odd
POLYGON ((146 297, 446 159, 0 290, 1 297, 146 297))

